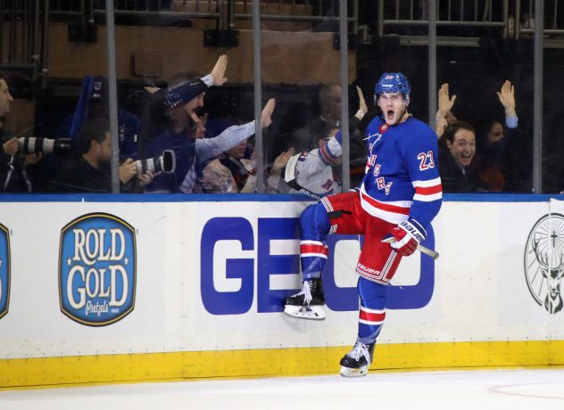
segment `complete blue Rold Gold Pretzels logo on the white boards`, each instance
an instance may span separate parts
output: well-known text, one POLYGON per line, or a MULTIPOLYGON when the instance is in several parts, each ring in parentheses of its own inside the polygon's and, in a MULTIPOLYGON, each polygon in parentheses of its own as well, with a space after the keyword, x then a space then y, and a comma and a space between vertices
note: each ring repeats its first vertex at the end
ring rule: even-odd
POLYGON ((120 217, 93 213, 61 231, 61 310, 80 324, 104 326, 128 316, 135 305, 134 228, 120 217))

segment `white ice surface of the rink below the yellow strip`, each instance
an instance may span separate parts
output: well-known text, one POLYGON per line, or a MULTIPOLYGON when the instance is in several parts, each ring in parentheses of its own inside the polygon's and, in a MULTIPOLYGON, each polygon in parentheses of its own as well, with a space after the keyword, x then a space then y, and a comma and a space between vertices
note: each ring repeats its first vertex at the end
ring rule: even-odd
POLYGON ((371 372, 0 391, 0 410, 564 409, 564 368, 371 372))

